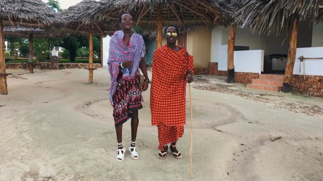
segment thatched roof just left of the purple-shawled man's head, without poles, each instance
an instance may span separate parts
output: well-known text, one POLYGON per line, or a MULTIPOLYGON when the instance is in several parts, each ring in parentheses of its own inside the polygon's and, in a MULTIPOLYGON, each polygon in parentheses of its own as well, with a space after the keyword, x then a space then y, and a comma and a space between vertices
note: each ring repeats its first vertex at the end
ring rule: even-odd
POLYGON ((99 21, 93 21, 93 19, 85 18, 92 14, 96 14, 97 8, 100 3, 95 0, 83 0, 75 6, 69 7, 67 10, 60 13, 60 15, 67 21, 65 30, 71 33, 88 34, 89 25, 92 25, 92 31, 94 34, 109 34, 115 32, 112 26, 108 23, 100 23, 99 21))

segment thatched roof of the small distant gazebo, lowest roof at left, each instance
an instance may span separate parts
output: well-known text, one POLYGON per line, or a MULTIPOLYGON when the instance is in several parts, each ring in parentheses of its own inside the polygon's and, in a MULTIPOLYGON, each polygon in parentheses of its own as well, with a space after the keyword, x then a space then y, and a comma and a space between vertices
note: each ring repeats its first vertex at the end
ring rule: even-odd
POLYGON ((31 27, 21 27, 21 26, 9 26, 4 28, 5 35, 28 38, 30 34, 33 38, 55 38, 63 37, 65 34, 59 32, 56 29, 39 29, 31 27))

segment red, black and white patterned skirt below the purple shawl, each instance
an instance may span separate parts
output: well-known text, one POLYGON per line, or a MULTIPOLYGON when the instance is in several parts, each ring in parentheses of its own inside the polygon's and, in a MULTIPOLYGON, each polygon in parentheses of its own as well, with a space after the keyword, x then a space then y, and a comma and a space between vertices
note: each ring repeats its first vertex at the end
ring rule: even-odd
POLYGON ((133 111, 142 108, 139 80, 139 70, 136 72, 135 77, 130 80, 123 79, 121 72, 118 75, 116 92, 112 98, 114 102, 113 117, 116 127, 130 119, 133 111))

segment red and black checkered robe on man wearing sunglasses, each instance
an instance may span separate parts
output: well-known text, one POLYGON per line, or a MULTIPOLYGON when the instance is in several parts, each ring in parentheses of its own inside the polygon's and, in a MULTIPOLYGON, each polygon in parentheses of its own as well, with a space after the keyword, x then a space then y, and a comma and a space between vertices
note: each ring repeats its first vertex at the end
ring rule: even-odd
POLYGON ((158 127, 159 150, 183 136, 186 123, 186 72, 193 70, 193 56, 167 45, 153 54, 150 87, 151 124, 158 127))

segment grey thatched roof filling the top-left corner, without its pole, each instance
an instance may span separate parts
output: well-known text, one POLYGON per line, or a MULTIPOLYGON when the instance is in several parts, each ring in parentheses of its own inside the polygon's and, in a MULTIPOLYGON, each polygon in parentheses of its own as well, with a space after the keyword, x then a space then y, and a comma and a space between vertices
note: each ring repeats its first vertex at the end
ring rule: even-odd
POLYGON ((62 26, 65 21, 41 0, 1 0, 0 16, 5 24, 62 26))

